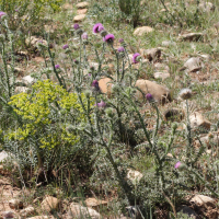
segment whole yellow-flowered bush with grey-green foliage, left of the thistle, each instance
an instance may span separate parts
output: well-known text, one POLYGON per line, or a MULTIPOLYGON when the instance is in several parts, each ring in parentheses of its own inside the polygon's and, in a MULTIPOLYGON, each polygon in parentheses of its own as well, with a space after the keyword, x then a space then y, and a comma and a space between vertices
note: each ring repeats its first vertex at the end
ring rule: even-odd
MULTIPOLYGON (((90 108, 88 103, 94 104, 83 93, 80 101, 85 108, 90 108)), ((31 150, 35 159, 28 153, 26 159, 36 168, 46 162, 50 170, 55 162, 58 163, 56 158, 65 162, 80 145, 80 135, 76 130, 69 131, 68 124, 85 124, 88 119, 80 101, 77 93, 69 93, 50 80, 36 82, 32 93, 13 95, 9 104, 22 118, 22 126, 4 131, 4 146, 16 145, 16 151, 25 154, 31 150)))

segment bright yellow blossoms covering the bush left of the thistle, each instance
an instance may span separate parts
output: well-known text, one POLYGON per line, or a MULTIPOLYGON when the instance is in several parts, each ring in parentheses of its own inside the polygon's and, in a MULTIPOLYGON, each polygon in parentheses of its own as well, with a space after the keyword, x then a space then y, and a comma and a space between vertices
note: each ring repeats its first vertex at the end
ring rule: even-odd
MULTIPOLYGON (((82 94, 85 105, 85 96, 82 94)), ((25 140, 30 136, 41 136, 41 148, 51 149, 64 141, 74 145, 79 137, 69 134, 65 125, 57 125, 57 131, 48 131, 54 127, 51 110, 58 108, 67 115, 74 112, 76 120, 85 120, 84 113, 78 102, 76 93, 68 93, 62 87, 53 83, 50 80, 38 81, 33 85, 31 94, 20 93, 11 97, 10 105, 14 107, 18 115, 23 118, 24 125, 15 130, 10 130, 4 138, 25 140), (41 134, 41 135, 39 135, 41 134), (42 137, 43 136, 43 137, 42 137)))

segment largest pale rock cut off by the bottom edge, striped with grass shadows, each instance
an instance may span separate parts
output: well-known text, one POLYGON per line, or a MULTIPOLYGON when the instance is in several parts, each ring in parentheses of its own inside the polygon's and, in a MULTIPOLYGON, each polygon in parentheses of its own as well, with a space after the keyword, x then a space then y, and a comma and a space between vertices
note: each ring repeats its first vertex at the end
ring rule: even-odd
POLYGON ((101 215, 92 208, 83 207, 79 204, 72 203, 70 205, 70 209, 68 211, 68 219, 74 218, 92 218, 92 219, 100 219, 102 218, 101 215))

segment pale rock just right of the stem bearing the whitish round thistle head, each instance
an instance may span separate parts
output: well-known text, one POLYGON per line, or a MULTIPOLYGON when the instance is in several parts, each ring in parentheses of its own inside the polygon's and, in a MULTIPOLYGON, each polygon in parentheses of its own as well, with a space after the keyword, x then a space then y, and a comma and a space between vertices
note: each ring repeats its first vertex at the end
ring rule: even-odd
POLYGON ((205 128, 210 129, 211 123, 207 120, 200 113, 195 112, 189 115, 191 127, 192 128, 205 128))

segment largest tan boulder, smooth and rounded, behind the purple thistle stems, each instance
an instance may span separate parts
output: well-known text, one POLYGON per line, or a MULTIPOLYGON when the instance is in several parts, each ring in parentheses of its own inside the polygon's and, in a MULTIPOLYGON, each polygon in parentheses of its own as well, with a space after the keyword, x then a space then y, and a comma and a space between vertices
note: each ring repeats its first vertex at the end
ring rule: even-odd
MULTIPOLYGON (((170 90, 158 83, 140 79, 136 81, 136 87, 140 89, 143 94, 151 93, 153 99, 161 104, 172 101, 170 90)), ((137 91, 136 97, 143 99, 142 93, 137 91)))

